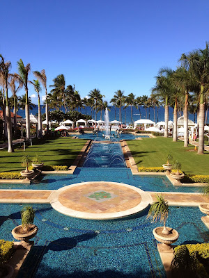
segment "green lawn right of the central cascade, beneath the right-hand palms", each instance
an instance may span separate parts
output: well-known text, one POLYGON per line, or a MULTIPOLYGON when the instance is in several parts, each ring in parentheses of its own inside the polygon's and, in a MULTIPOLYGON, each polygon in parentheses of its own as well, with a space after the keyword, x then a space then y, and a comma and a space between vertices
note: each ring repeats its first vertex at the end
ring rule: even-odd
POLYGON ((183 147, 183 142, 173 142, 172 138, 143 138, 127 141, 137 166, 154 167, 167 163, 170 152, 173 160, 178 160, 186 174, 209 174, 209 152, 199 155, 194 146, 183 147))

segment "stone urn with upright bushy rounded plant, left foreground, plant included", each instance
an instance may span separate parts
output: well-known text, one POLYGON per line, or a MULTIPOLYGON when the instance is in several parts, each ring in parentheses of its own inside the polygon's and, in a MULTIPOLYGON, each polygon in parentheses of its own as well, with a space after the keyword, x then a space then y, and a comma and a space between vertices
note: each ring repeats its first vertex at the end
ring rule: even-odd
POLYGON ((29 239, 36 236, 38 227, 33 224, 35 211, 32 206, 22 208, 21 219, 22 225, 15 227, 12 231, 13 237, 17 240, 22 240, 24 244, 29 244, 29 239))

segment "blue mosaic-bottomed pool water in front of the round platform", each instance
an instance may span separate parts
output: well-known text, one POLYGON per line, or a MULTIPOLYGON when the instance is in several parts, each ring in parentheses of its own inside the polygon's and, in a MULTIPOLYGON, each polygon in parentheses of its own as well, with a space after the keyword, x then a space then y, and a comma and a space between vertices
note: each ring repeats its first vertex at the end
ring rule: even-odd
MULTIPOLYGON (((34 204, 39 231, 18 278, 22 277, 165 277, 152 231, 160 223, 147 211, 123 220, 82 220, 62 215, 49 204, 34 204)), ((0 238, 20 223, 20 204, 0 204, 0 238)), ((177 245, 208 242, 198 208, 171 207, 167 226, 180 234, 177 245)))

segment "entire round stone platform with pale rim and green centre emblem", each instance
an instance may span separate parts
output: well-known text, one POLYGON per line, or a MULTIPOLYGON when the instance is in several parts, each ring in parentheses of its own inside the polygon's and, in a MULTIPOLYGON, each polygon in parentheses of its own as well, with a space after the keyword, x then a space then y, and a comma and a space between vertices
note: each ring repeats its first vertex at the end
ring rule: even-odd
POLYGON ((116 219, 143 211, 150 204, 150 195, 125 183, 92 181, 54 191, 50 204, 56 211, 75 218, 116 219))

